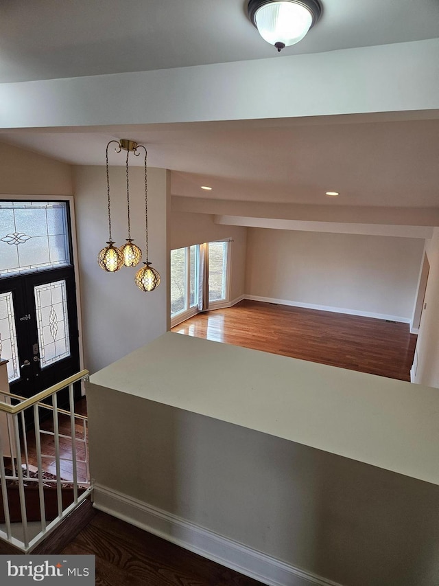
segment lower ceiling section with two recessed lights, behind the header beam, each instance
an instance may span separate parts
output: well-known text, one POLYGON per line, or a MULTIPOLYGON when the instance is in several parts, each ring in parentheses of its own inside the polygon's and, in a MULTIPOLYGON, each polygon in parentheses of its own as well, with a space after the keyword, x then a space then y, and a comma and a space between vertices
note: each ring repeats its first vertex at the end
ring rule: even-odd
MULTIPOLYGON (((21 132, 3 141, 62 161, 105 164, 105 146, 128 137, 148 164, 169 168, 180 196, 316 205, 439 205, 439 120, 370 122, 362 115, 21 132), (209 185, 211 192, 201 190, 209 185), (326 191, 340 192, 329 199, 326 191)), ((142 161, 132 157, 133 165, 142 161)), ((110 164, 125 155, 110 150, 110 164)))

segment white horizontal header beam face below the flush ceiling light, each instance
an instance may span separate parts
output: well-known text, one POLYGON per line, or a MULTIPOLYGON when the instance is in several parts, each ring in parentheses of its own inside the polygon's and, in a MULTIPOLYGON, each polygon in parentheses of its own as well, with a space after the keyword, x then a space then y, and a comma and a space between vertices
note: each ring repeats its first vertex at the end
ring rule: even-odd
POLYGON ((434 110, 439 107, 439 39, 3 83, 0 103, 3 128, 434 110))

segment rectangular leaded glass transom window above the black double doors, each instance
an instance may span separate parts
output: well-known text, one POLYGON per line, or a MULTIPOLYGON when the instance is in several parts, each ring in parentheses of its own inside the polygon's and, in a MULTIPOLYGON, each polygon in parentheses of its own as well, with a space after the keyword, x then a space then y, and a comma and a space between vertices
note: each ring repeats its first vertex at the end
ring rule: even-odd
POLYGON ((71 264, 67 203, 0 201, 0 277, 71 264))

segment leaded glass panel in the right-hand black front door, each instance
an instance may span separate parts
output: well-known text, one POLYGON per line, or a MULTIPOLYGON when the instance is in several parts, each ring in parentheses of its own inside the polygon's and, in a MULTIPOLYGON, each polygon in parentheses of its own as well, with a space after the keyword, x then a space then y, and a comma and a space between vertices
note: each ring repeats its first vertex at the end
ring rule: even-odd
POLYGON ((40 366, 70 356, 65 280, 34 287, 40 366))

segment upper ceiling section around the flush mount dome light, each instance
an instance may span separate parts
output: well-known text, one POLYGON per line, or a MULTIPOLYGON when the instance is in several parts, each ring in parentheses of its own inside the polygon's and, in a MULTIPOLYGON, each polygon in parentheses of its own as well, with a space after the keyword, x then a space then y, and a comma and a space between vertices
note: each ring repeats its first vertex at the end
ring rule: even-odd
MULTIPOLYGON (((3 0, 0 82, 147 71, 276 55, 248 0, 3 0)), ((437 0, 322 0, 320 21, 279 55, 436 38, 437 0)))

